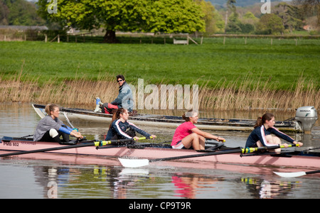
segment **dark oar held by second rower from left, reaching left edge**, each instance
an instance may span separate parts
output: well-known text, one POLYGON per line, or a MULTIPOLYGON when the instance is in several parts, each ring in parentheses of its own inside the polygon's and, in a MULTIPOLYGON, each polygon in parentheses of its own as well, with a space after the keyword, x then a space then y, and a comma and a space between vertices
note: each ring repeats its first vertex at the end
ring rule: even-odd
MULTIPOLYGON (((151 138, 151 137, 150 137, 151 138)), ((144 140, 146 137, 139 138, 139 140, 144 140)), ((23 155, 23 154, 29 154, 29 153, 42 153, 42 152, 47 152, 47 151, 58 151, 58 150, 63 150, 63 149, 68 149, 68 148, 81 148, 81 147, 86 147, 86 146, 105 146, 105 145, 110 145, 110 144, 119 144, 123 145, 124 143, 127 143, 129 141, 136 141, 134 138, 128 138, 128 139, 119 139, 119 140, 111 140, 111 141, 87 141, 86 143, 80 143, 76 145, 71 145, 71 146, 60 146, 60 147, 54 147, 54 148, 43 148, 43 149, 37 149, 37 150, 32 150, 32 151, 20 151, 16 153, 6 153, 0 155, 0 157, 5 157, 5 156, 11 156, 11 155, 23 155)))

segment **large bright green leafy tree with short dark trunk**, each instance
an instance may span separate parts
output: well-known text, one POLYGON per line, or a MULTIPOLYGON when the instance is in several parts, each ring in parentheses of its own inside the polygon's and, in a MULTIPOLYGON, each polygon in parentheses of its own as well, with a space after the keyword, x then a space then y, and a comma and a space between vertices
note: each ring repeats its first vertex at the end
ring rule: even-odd
POLYGON ((48 13, 47 0, 38 0, 38 13, 61 26, 105 28, 105 42, 117 42, 115 31, 193 33, 204 31, 204 15, 192 0, 58 0, 57 13, 48 13))

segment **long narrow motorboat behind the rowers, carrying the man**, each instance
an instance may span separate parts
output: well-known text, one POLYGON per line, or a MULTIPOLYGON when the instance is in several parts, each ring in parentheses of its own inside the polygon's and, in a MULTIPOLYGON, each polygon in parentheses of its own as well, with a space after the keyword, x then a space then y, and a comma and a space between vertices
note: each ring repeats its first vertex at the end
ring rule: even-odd
MULTIPOLYGON (((38 116, 43 118, 46 116, 45 105, 32 104, 33 109, 38 116)), ((65 121, 65 114, 71 122, 91 122, 91 123, 110 123, 112 120, 111 114, 95 112, 89 109, 74 109, 59 107, 59 119, 65 121)), ((129 116, 129 121, 136 125, 156 126, 164 128, 176 128, 183 123, 181 116, 166 116, 156 114, 132 114, 129 116)), ((252 131, 255 126, 255 120, 252 119, 198 119, 196 124, 198 129, 203 130, 220 130, 220 131, 252 131)), ((279 131, 294 131, 302 132, 302 126, 295 120, 288 119, 286 121, 277 121, 274 125, 279 131)))

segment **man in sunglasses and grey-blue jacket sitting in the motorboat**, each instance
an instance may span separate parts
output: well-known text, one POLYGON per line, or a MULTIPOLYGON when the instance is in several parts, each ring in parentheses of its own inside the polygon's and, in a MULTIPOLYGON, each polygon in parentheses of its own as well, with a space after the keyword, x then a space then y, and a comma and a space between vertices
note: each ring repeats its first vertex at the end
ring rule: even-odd
POLYGON ((105 112, 106 114, 112 114, 113 109, 119 108, 124 108, 131 112, 134 107, 132 90, 127 84, 127 82, 124 80, 124 76, 117 75, 116 78, 119 84, 119 94, 113 102, 102 104, 102 112, 105 112))

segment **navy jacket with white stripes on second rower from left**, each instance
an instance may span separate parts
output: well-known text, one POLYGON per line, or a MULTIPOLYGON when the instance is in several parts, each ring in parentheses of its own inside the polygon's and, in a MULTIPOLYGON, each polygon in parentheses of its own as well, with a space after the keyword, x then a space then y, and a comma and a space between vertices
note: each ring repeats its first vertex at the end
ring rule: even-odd
POLYGON ((118 120, 115 120, 115 121, 112 122, 111 128, 109 129, 105 140, 109 141, 114 136, 117 136, 118 139, 132 138, 132 136, 129 136, 127 134, 127 131, 129 131, 129 130, 137 131, 137 133, 140 133, 140 134, 142 134, 143 136, 146 136, 146 137, 151 136, 149 133, 146 133, 142 129, 139 129, 134 124, 132 124, 132 123, 130 123, 128 121, 122 123, 122 121, 120 119, 118 119, 118 120))

